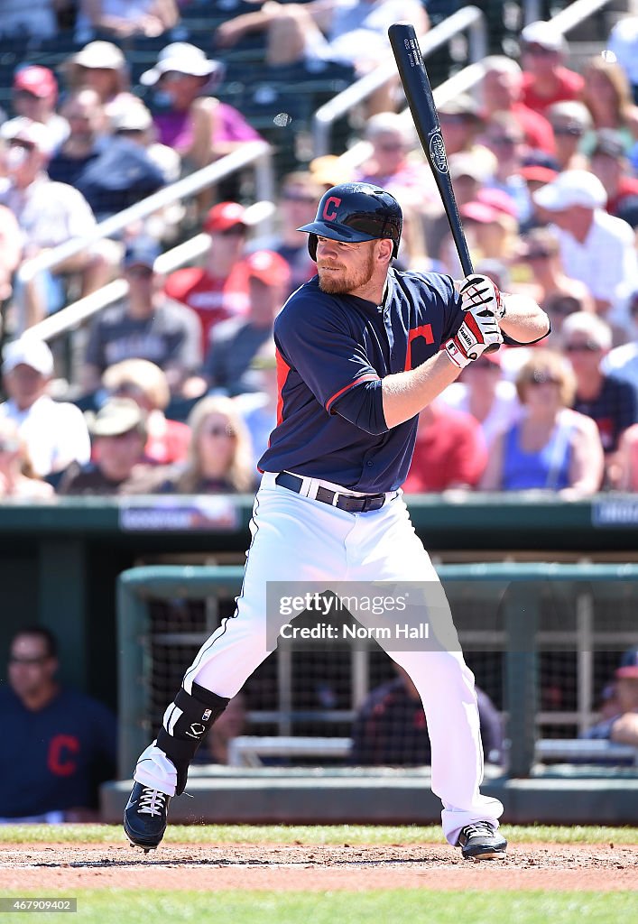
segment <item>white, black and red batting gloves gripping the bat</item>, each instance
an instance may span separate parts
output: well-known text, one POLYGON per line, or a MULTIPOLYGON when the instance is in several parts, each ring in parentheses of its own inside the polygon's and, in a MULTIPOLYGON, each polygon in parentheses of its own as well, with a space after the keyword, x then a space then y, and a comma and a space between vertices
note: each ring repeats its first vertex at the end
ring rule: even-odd
POLYGON ((444 347, 449 359, 464 369, 485 353, 488 346, 503 343, 498 322, 505 314, 505 303, 492 280, 480 275, 464 280, 460 297, 465 319, 444 347))

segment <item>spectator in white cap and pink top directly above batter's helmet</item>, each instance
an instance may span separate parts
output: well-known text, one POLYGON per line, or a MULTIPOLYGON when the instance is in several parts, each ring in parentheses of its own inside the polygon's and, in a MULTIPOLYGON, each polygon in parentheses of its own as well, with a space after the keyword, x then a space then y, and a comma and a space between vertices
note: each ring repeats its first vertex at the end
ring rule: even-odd
POLYGON ((405 196, 418 190, 419 201, 436 201, 436 186, 432 171, 419 154, 414 153, 415 137, 397 113, 377 113, 365 126, 365 140, 370 142, 370 157, 356 172, 355 180, 373 183, 388 189, 394 196, 405 196))

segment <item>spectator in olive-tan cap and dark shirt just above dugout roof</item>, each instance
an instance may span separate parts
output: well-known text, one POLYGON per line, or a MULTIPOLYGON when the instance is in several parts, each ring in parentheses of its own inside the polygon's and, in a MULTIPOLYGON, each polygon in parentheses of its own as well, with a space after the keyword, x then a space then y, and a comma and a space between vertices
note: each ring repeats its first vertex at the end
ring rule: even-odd
POLYGON ((169 469, 150 464, 144 456, 146 421, 135 401, 109 398, 91 419, 90 427, 93 461, 70 466, 58 485, 58 494, 148 494, 159 490, 169 469))

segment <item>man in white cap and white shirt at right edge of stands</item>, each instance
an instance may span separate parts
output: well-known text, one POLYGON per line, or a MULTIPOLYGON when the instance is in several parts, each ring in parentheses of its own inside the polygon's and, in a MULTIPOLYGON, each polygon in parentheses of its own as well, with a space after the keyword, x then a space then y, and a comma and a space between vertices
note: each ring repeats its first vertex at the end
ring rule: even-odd
POLYGON ((628 281, 638 276, 632 228, 605 212, 607 193, 585 170, 566 170, 534 193, 556 227, 565 272, 579 279, 609 323, 627 326, 628 281))

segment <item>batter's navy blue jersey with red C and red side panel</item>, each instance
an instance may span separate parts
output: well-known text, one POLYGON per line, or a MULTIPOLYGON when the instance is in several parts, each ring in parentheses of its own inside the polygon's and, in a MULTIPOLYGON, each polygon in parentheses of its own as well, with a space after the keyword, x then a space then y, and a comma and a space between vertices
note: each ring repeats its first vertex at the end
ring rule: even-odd
POLYGON ((301 286, 275 322, 277 426, 264 471, 293 471, 353 491, 406 479, 418 416, 388 429, 381 380, 435 356, 462 322, 449 276, 390 270, 382 305, 301 286))

